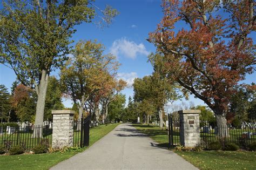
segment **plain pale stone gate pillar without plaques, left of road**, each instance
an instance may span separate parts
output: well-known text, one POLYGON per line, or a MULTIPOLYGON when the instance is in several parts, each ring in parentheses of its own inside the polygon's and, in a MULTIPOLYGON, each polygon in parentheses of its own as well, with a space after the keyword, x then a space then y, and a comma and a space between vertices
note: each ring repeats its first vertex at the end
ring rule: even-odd
POLYGON ((52 147, 62 148, 73 145, 73 121, 75 111, 52 110, 52 147))

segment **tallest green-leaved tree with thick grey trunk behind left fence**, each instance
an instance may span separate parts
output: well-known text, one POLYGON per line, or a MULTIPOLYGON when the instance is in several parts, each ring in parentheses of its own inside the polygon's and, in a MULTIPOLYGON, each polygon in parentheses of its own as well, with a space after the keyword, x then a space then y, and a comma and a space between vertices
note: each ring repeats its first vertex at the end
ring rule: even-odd
MULTIPOLYGON (((36 125, 41 125, 49 75, 70 53, 75 25, 97 15, 110 24, 118 12, 87 0, 3 1, 0 11, 0 62, 13 69, 22 84, 36 90, 36 125)), ((41 133, 39 133, 41 134, 41 133)))

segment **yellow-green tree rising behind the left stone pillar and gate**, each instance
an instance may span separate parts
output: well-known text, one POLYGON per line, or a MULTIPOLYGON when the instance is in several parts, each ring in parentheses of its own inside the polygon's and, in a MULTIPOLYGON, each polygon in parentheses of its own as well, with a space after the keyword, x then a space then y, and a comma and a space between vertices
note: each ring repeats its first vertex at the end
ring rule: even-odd
POLYGON ((99 95, 96 92, 111 79, 110 72, 115 73, 119 66, 116 58, 111 54, 103 55, 103 50, 103 45, 96 40, 78 42, 72 53, 73 57, 63 66, 60 73, 63 91, 77 105, 79 119, 82 118, 85 102, 89 98, 95 100, 91 101, 91 105, 99 104, 99 95))

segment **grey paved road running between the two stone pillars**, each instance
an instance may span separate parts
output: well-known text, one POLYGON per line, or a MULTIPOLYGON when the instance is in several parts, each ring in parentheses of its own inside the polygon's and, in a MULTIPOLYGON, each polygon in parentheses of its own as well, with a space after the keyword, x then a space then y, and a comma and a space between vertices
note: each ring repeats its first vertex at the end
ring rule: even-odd
POLYGON ((51 169, 197 169, 153 144, 130 124, 121 124, 86 151, 51 169))

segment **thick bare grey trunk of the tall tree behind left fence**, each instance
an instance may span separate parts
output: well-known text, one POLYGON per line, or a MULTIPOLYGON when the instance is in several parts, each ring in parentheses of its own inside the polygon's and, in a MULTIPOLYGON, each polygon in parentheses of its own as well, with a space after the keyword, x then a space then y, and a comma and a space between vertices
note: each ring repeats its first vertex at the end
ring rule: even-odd
POLYGON ((46 70, 42 70, 41 80, 39 85, 36 86, 37 92, 37 104, 36 104, 36 120, 33 130, 33 137, 42 137, 42 125, 44 121, 44 106, 45 106, 45 97, 48 86, 49 74, 46 73, 46 70))

